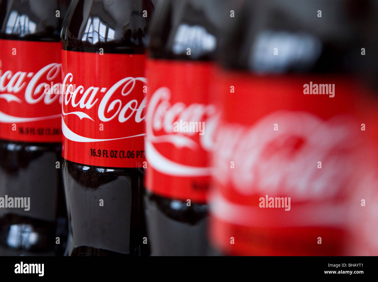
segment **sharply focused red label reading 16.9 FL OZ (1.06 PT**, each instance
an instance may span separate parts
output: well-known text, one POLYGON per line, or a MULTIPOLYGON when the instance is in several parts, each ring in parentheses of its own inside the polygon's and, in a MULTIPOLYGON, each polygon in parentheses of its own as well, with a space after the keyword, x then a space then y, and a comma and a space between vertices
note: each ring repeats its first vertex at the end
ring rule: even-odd
POLYGON ((143 167, 145 57, 62 50, 66 160, 143 167))

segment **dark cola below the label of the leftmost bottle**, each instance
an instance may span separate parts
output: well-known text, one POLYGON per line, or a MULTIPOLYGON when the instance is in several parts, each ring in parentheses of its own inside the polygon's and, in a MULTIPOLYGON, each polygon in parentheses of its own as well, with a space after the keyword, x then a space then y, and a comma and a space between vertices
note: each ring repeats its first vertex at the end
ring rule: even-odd
MULTIPOLYGON (((56 236, 65 244, 67 221, 61 175, 51 165, 60 160, 61 150, 60 144, 0 141, 1 196, 30 197, 33 203, 29 211, 1 213, 1 255, 54 255, 56 236), (56 221, 57 208, 60 218, 56 221)), ((60 248, 58 253, 63 251, 60 248)))

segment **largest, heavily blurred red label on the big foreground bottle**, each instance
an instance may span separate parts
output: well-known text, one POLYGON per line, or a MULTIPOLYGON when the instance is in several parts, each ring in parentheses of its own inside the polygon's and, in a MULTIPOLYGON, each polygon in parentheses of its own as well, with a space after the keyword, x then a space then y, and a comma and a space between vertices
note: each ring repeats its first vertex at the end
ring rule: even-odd
POLYGON ((219 75, 213 242, 231 254, 345 254, 350 195, 376 171, 363 88, 335 76, 219 75))

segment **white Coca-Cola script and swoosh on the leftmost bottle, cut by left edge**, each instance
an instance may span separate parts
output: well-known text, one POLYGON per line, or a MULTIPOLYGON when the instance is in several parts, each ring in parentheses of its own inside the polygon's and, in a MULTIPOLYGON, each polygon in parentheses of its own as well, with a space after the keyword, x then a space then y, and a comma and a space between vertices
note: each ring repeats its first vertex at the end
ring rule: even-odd
MULTIPOLYGON (((16 102, 18 104, 28 105, 39 103, 51 105, 54 102, 60 102, 59 93, 54 94, 53 88, 50 91, 45 91, 45 85, 50 85, 50 82, 53 84, 53 81, 59 80, 62 69, 61 64, 48 64, 36 73, 27 71, 14 72, 12 70, 3 72, 1 67, 2 62, 0 60, 0 101, 3 100, 3 102, 7 103, 16 102)), ((39 116, 40 112, 37 111, 28 111, 27 113, 32 113, 37 116, 20 117, 0 111, 0 122, 30 122, 59 118, 60 116, 60 114, 39 116)))

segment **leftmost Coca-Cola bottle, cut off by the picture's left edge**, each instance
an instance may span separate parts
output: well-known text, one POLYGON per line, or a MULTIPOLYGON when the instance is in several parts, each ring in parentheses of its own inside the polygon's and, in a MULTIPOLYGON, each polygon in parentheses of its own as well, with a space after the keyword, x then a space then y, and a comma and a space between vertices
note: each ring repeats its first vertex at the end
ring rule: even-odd
POLYGON ((59 31, 67 6, 0 1, 0 255, 65 249, 59 31))

